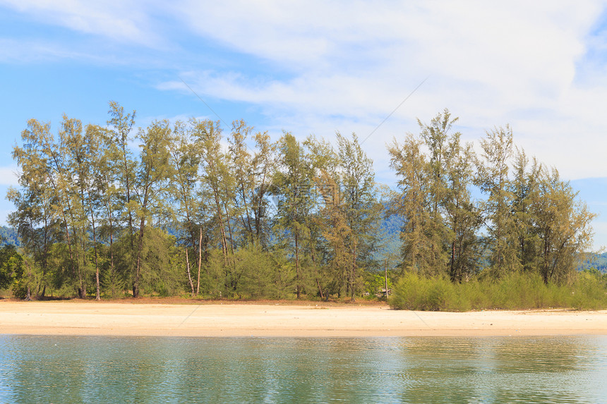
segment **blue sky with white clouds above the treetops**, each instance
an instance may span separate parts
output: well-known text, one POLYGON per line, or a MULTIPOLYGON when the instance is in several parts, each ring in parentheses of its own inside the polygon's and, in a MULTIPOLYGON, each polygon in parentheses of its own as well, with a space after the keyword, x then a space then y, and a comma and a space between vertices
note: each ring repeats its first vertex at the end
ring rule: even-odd
MULTIPOLYGON (((509 124, 599 214, 607 245, 607 1, 0 0, 0 195, 30 118, 244 119, 385 146, 445 108, 476 142, 509 124)), ((227 130, 227 127, 225 128, 227 130)), ((0 224, 13 209, 0 200, 0 224)))

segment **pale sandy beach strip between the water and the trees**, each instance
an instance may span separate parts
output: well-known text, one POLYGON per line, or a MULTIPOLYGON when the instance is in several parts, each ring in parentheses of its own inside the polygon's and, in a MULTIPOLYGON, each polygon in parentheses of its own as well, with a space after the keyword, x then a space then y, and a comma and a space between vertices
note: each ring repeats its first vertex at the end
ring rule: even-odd
POLYGON ((0 333, 73 336, 607 335, 607 311, 412 312, 386 306, 0 300, 0 333))

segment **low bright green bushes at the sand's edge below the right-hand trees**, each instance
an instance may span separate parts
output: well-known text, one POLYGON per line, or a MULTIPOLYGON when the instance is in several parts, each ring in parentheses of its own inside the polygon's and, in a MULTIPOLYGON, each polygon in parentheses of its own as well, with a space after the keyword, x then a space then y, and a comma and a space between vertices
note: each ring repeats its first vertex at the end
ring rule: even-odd
POLYGON ((525 310, 607 308, 607 280, 597 271, 583 271, 571 283, 544 283, 540 274, 512 273, 498 280, 484 277, 451 283, 409 272, 392 289, 390 305, 398 310, 525 310))

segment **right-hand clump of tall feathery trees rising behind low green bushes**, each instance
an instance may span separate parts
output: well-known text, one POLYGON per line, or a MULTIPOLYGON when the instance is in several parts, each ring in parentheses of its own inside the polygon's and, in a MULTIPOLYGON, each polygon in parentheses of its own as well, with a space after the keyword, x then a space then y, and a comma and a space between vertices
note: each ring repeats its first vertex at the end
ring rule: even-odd
POLYGON ((404 216, 403 266, 461 282, 536 272, 567 281, 591 248, 596 216, 577 192, 514 145, 509 126, 488 130, 479 154, 463 144, 445 109, 419 135, 388 147, 399 178, 394 209, 404 216), (471 190, 483 197, 475 200, 471 190))

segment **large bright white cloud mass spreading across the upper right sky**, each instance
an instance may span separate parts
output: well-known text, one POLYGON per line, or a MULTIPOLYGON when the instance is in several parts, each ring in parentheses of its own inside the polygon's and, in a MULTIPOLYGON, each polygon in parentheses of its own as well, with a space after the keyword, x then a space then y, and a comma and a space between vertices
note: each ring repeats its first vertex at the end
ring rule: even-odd
MULTIPOLYGON (((344 118, 373 128, 430 75, 390 118, 401 129, 386 126, 376 143, 415 131, 415 117, 429 121, 448 107, 474 132, 471 138, 511 123, 529 154, 557 166, 566 178, 581 178, 607 170, 600 157, 607 146, 600 112, 607 107, 607 82, 578 85, 588 42, 601 47, 589 32, 604 6, 603 1, 204 6, 190 1, 176 9, 200 36, 255 56, 269 71, 286 72, 282 77, 246 69, 184 73, 203 97, 257 104, 273 124, 283 117, 294 131, 299 128, 289 124, 308 118, 303 128, 318 124, 316 133, 344 118), (589 144, 596 147, 589 150, 589 144)), ((603 71, 595 67, 586 74, 603 71)), ((178 81, 160 85, 182 87, 178 81)))

